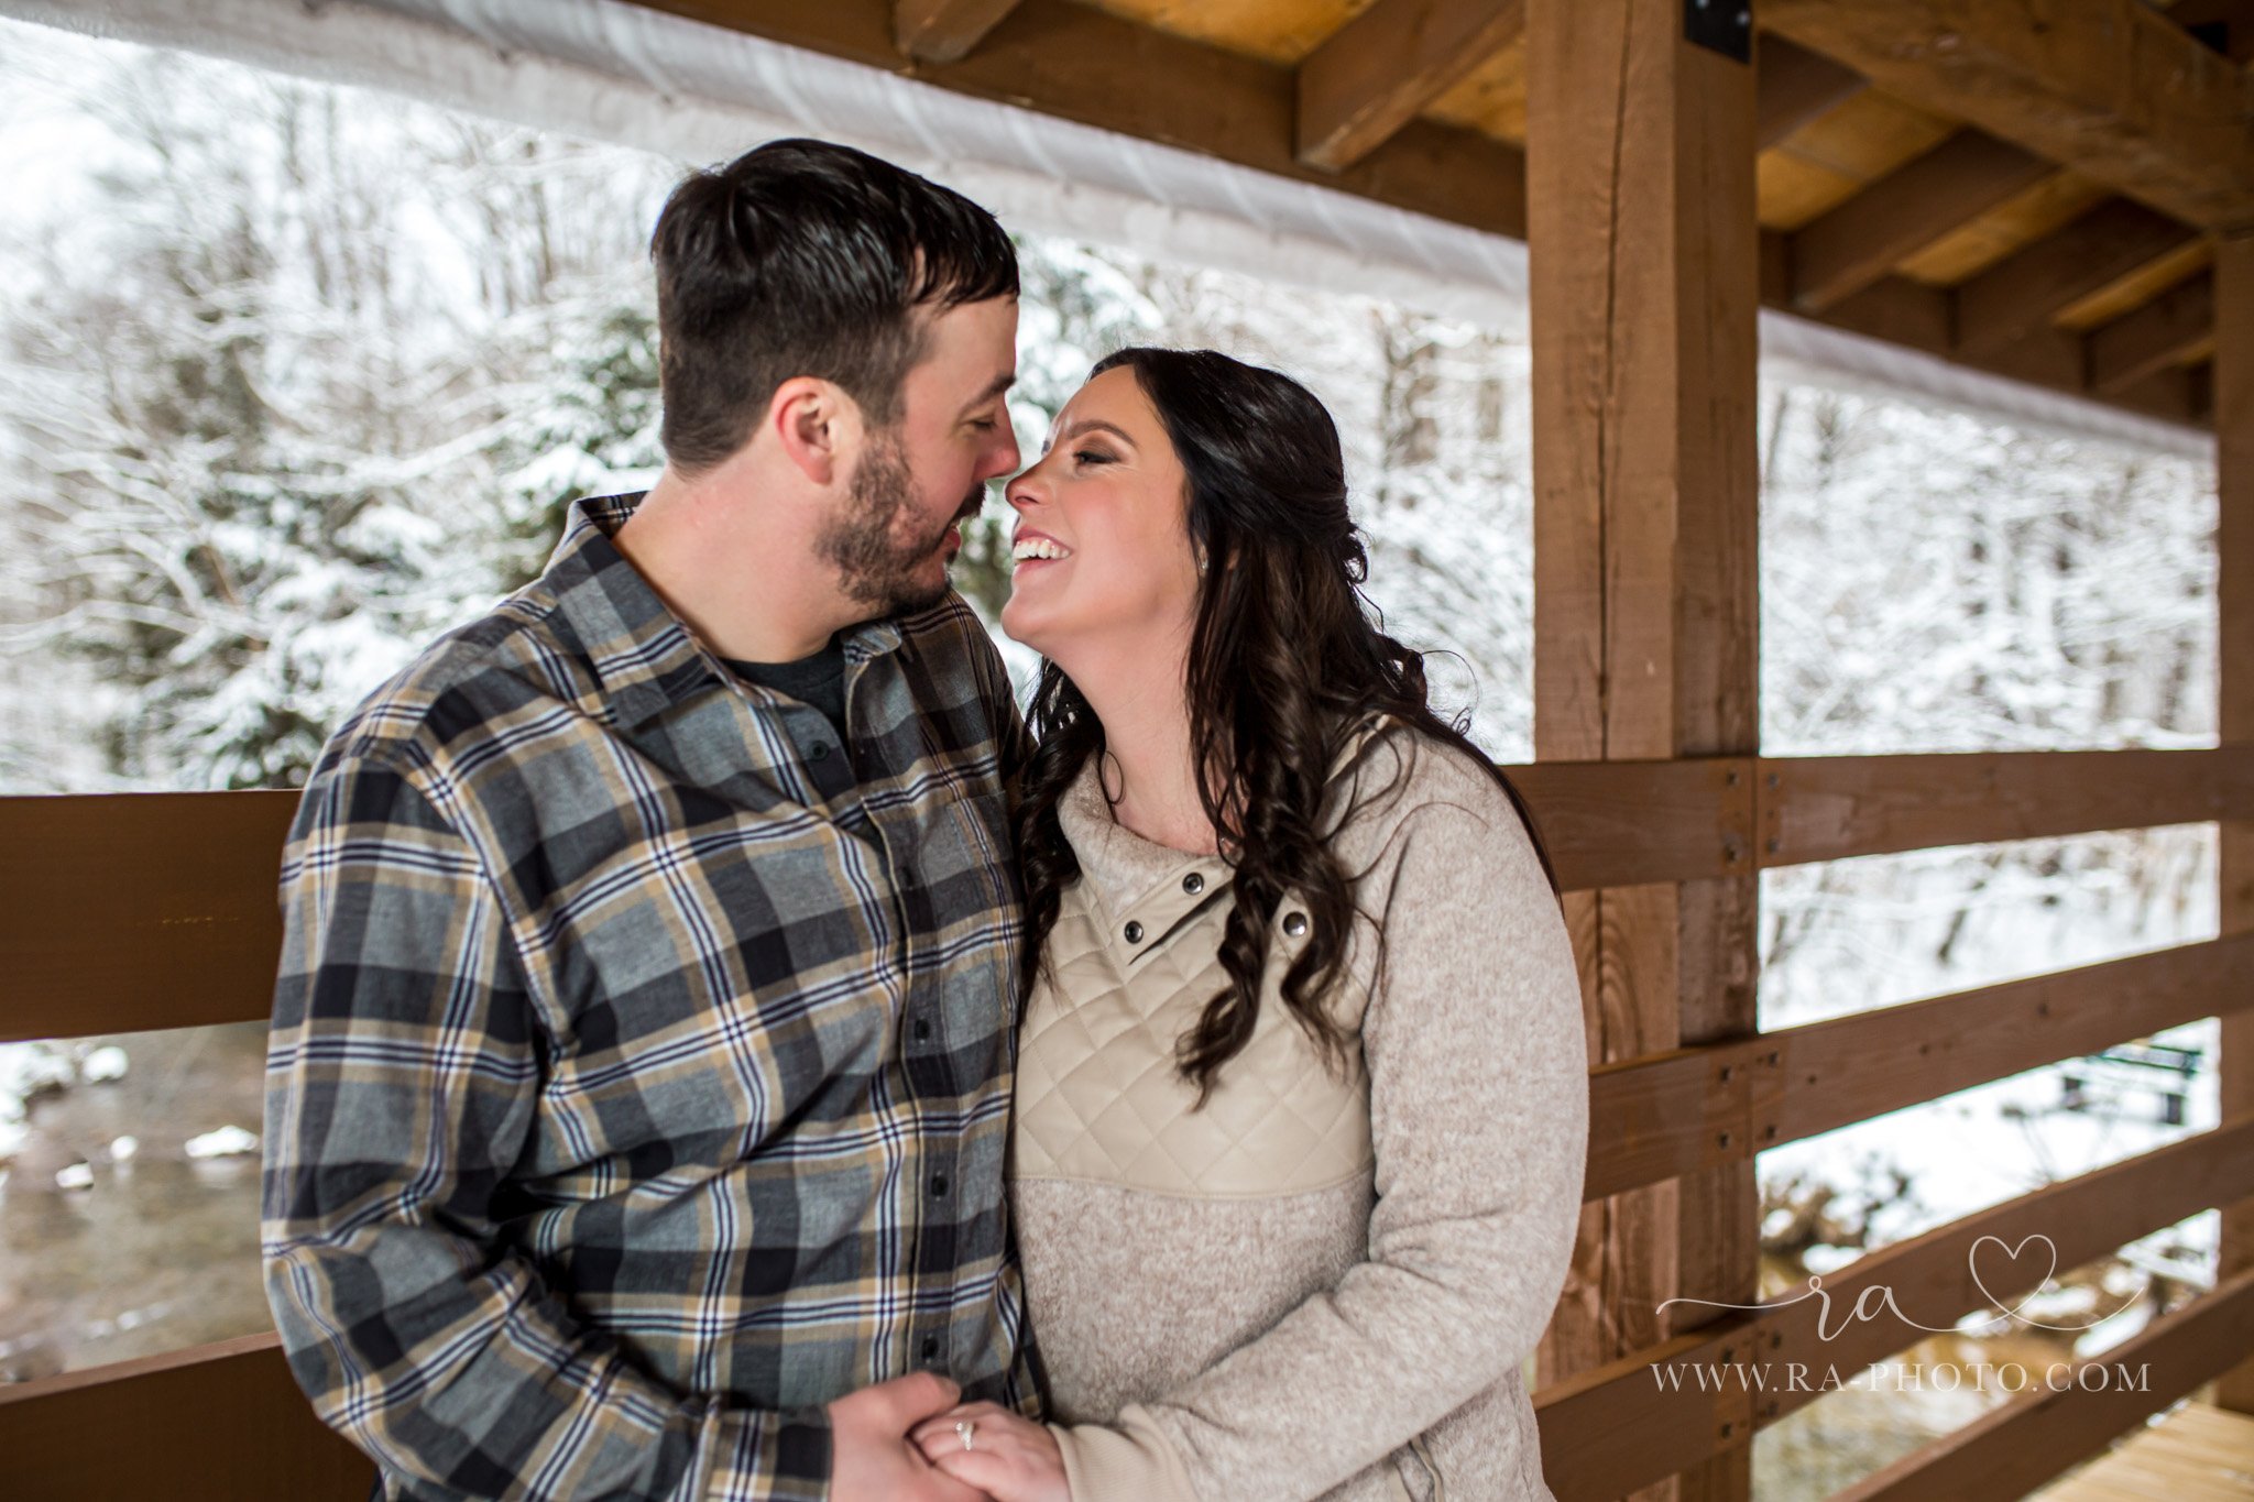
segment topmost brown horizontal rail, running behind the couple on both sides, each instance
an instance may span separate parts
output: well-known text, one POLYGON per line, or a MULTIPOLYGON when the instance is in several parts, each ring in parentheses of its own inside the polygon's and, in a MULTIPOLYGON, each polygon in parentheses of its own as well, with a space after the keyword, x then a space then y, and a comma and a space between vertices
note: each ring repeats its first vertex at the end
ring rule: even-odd
MULTIPOLYGON (((2254 745, 1506 766, 1567 889, 2254 817, 2254 745)), ((264 1018, 295 793, 0 797, 0 1043, 264 1018)), ((1679 1169, 1677 1169, 1679 1171, 1679 1169)))

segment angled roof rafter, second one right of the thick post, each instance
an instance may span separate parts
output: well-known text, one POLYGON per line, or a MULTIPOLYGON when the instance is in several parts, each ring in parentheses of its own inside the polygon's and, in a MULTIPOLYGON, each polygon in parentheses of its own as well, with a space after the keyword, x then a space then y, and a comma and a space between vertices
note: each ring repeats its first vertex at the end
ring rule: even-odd
POLYGON ((1986 131, 1959 131, 1792 236, 1792 306, 1821 311, 2058 169, 1986 131))

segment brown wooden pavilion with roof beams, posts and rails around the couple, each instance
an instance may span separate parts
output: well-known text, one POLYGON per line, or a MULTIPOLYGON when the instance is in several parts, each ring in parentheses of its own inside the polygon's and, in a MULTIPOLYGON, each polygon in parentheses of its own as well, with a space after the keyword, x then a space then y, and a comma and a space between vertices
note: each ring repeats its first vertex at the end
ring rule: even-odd
MULTIPOLYGON (((658 0, 926 83, 1521 239, 1535 802, 1582 959, 1591 1146, 1539 1351, 1560 1500, 1751 1493, 1814 1394, 2058 1268, 2222 1212, 2211 1293, 1842 1497, 2020 1497, 2207 1387, 2254 1414, 2254 0, 658 0), (1760 754, 1763 306, 2211 430, 2220 745, 1760 754), (1760 1031, 1758 874, 2220 822, 2220 939, 1760 1031), (1760 1148, 2222 1016, 2222 1121, 1756 1304, 1760 1148), (1898 1306, 1898 1308, 1896 1308, 1898 1306), (1857 1306, 1860 1308, 1860 1306, 1857 1306), (1738 1380, 1668 1387, 1654 1369, 1738 1380)), ((0 799, 0 1040, 266 1016, 293 795, 0 799), (133 851, 133 860, 124 860, 133 851)), ((2240 1430, 2243 1432, 2243 1430, 2240 1430)), ((273 1335, 0 1389, 23 1497, 361 1497, 273 1335)), ((2245 1466, 2245 1457, 2238 1461, 2245 1466)), ((2220 1495, 2220 1493, 2218 1493, 2220 1495)))

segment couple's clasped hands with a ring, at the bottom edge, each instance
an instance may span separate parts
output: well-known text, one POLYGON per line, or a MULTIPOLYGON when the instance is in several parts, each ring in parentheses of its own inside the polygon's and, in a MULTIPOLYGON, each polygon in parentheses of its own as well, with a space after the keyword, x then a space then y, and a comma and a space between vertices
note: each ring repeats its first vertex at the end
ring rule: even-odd
POLYGON ((1064 1452, 999 1403, 915 1371, 829 1405, 834 1502, 1071 1502, 1064 1452), (962 1446, 958 1423, 974 1425, 962 1446))

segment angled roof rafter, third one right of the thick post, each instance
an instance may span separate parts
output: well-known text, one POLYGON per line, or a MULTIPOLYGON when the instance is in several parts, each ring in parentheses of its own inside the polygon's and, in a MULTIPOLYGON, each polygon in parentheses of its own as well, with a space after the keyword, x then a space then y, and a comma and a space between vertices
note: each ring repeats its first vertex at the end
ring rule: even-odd
POLYGON ((1956 288, 1956 349, 1984 354, 2198 239, 2180 221, 2112 198, 1956 288))

